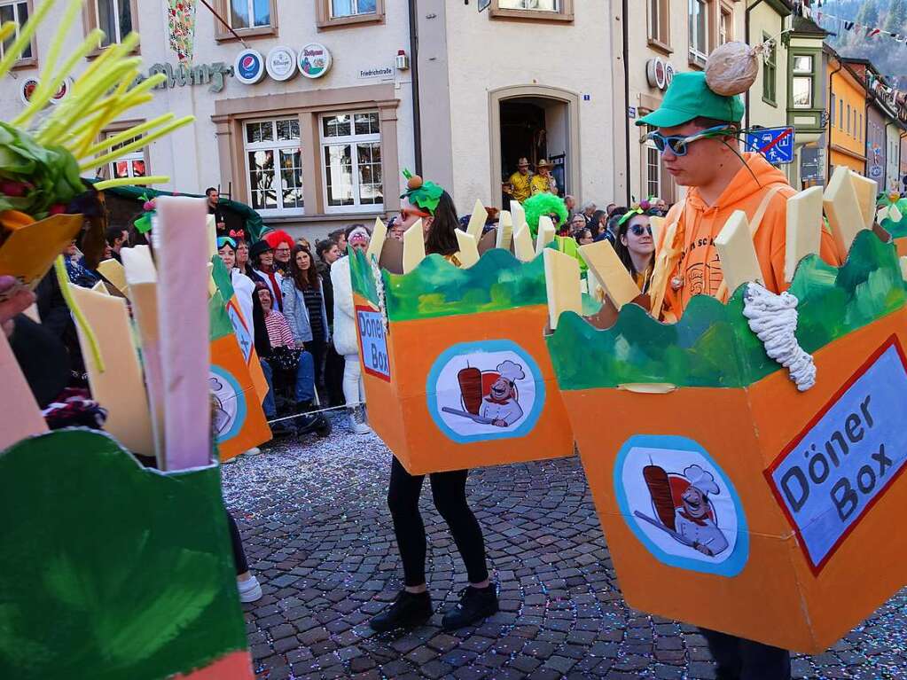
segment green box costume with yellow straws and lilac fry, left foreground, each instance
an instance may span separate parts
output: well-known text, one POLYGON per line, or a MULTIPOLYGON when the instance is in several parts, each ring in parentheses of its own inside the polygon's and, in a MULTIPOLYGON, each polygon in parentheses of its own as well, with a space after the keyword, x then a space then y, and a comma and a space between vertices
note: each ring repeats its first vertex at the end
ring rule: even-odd
MULTIPOLYGON (((130 282, 134 332, 122 296, 103 286, 76 289, 59 257, 81 231, 89 259, 103 245, 102 203, 80 172, 132 151, 131 143, 116 151, 112 145, 133 136, 144 145, 192 120, 166 114, 136 126, 141 130, 97 141, 98 131, 147 102, 147 91, 163 79, 136 82, 141 59, 129 57, 136 34, 106 47, 74 83, 67 81, 60 90, 67 96, 47 113, 69 70, 102 43, 102 32, 91 31, 65 65, 56 63, 82 5, 67 3, 31 102, 0 126, 0 275, 34 287, 56 258, 57 282, 76 318, 93 396, 104 395, 109 432, 47 432, 6 329, 0 333, 0 384, 5 404, 15 404, 0 414, 0 510, 9 548, 0 553, 0 676, 250 680, 209 432, 204 200, 168 199, 162 207, 166 264, 161 286, 144 278, 130 282), (91 226, 83 230, 83 222, 91 226), (153 377, 151 355, 158 359, 153 377), (122 399, 112 396, 117 390, 122 399), (161 470, 143 467, 132 452, 156 455, 161 470)), ((53 6, 53 0, 37 4, 24 26, 0 26, 0 77, 53 6)), ((122 183, 105 180, 96 188, 122 183)), ((147 248, 122 252, 153 270, 147 248)), ((15 317, 14 338, 20 321, 15 317)))

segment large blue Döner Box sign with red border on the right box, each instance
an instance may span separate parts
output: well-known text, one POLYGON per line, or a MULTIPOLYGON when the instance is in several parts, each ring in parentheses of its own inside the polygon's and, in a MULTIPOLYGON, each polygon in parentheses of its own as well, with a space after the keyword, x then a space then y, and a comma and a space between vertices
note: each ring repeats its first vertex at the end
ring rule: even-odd
POLYGON ((766 471, 818 573, 907 463, 907 368, 892 337, 766 471))

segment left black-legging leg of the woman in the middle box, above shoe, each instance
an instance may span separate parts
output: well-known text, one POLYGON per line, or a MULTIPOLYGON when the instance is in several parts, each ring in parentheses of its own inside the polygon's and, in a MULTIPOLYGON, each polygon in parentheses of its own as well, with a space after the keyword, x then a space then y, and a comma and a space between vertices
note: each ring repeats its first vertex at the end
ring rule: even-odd
POLYGON ((387 490, 387 507, 394 520, 397 548, 403 560, 406 586, 421 586, 425 582, 425 525, 419 513, 419 495, 424 475, 411 475, 394 457, 391 462, 391 481, 387 490))

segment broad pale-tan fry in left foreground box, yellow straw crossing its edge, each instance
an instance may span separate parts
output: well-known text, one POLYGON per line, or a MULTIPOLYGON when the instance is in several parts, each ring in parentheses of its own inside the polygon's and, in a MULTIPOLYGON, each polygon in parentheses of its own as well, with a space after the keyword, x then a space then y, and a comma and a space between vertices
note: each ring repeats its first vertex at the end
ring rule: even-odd
POLYGON ((132 344, 126 300, 73 284, 69 284, 69 292, 97 338, 103 371, 94 360, 92 345, 82 325, 75 325, 93 399, 107 409, 104 430, 129 451, 153 456, 148 396, 139 355, 132 344))

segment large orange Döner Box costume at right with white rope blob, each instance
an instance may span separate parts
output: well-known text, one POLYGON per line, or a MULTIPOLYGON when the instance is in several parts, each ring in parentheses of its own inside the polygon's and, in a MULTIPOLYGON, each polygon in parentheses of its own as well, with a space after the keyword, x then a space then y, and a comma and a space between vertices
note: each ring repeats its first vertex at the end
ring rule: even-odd
POLYGON ((902 587, 907 288, 858 181, 839 169, 824 196, 840 268, 797 257, 818 250, 821 189, 788 200, 790 296, 746 283, 760 275, 736 213, 716 238, 741 281, 727 305, 696 296, 676 324, 626 305, 604 330, 567 312, 548 335, 631 607, 815 654, 902 587), (790 375, 766 354, 779 343, 790 375))

